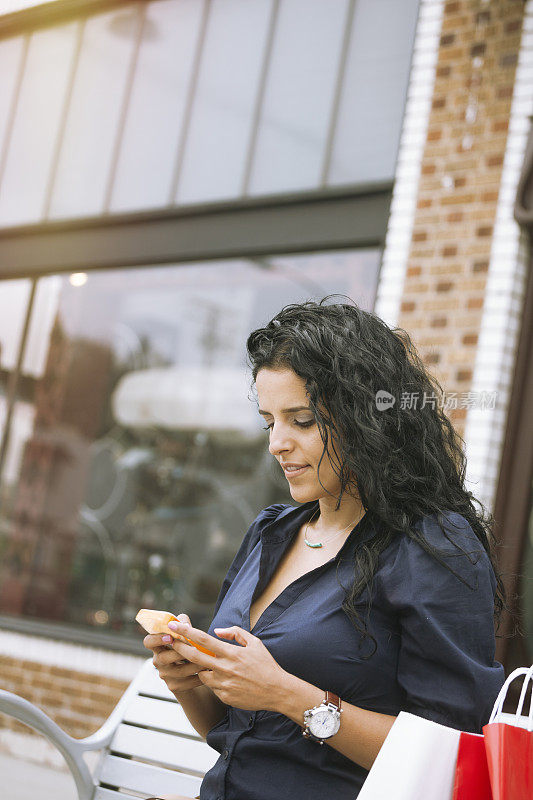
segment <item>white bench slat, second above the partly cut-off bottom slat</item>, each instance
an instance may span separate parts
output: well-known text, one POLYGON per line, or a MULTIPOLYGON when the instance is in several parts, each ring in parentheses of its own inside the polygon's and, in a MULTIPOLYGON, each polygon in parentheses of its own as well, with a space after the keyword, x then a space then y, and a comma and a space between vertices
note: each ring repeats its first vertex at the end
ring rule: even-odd
POLYGON ((109 749, 201 775, 211 769, 219 756, 202 740, 185 739, 133 725, 119 725, 109 749))

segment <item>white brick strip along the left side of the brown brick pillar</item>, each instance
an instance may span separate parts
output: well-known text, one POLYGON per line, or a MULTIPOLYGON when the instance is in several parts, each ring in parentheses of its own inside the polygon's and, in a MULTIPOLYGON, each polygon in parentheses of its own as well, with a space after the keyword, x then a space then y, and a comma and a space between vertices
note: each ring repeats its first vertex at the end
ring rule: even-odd
POLYGON ((420 0, 394 190, 374 307, 375 313, 390 327, 397 325, 400 315, 435 85, 443 11, 444 0, 420 0))

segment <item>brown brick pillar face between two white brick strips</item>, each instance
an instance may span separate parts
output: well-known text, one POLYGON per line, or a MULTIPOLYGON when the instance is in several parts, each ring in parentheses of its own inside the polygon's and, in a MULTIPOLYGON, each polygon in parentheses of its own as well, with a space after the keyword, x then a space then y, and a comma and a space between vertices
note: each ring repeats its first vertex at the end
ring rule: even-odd
MULTIPOLYGON (((523 0, 444 4, 397 324, 446 393, 472 383, 523 15, 523 0)), ((466 412, 448 412, 461 435, 466 412)))

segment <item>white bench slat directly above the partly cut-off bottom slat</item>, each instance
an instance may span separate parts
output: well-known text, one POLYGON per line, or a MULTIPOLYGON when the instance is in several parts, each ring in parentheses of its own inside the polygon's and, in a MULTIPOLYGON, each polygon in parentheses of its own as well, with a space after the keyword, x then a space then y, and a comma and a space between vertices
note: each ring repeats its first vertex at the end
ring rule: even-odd
POLYGON ((196 797, 202 779, 127 758, 109 756, 104 762, 100 781, 149 795, 184 794, 196 797))

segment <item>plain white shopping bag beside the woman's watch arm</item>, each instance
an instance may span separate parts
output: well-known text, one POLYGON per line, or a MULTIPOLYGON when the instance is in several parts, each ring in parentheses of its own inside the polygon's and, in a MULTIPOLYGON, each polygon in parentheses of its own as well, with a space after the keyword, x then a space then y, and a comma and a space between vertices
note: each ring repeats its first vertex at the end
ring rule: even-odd
POLYGON ((461 731, 400 711, 357 800, 450 800, 461 731))

